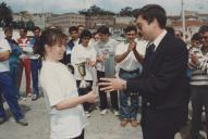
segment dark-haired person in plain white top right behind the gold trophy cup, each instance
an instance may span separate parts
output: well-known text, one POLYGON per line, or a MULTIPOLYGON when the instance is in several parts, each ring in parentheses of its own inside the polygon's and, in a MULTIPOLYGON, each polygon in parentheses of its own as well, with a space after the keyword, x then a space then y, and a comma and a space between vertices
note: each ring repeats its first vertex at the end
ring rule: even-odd
MULTIPOLYGON (((95 78, 93 72, 96 65, 96 50, 94 46, 89 45, 90 38, 91 33, 87 29, 84 29, 79 37, 81 43, 73 48, 71 55, 71 63, 75 70, 75 78, 77 80, 79 96, 86 94, 89 90, 91 90, 95 78), (84 77, 81 75, 81 64, 84 64, 84 77), (86 86, 82 86, 83 79, 86 80, 86 86)), ((84 103, 84 110, 87 116, 90 116, 89 109, 90 104, 84 103)))

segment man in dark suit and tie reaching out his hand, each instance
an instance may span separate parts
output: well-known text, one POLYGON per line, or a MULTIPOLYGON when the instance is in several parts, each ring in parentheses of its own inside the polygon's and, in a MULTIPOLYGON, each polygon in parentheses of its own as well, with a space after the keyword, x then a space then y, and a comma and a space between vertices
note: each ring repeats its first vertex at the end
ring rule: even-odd
POLYGON ((144 139, 174 139, 186 121, 188 80, 185 43, 167 33, 163 8, 148 4, 139 10, 136 23, 149 45, 139 78, 123 80, 102 78, 102 90, 137 92, 143 98, 144 139))

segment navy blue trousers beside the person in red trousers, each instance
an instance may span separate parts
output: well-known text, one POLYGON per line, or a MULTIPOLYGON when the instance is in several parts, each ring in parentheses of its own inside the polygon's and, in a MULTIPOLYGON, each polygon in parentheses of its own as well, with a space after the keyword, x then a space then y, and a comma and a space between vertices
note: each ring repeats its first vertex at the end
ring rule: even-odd
POLYGON ((33 80, 33 93, 39 94, 38 76, 41 68, 41 60, 30 60, 32 80, 33 80))

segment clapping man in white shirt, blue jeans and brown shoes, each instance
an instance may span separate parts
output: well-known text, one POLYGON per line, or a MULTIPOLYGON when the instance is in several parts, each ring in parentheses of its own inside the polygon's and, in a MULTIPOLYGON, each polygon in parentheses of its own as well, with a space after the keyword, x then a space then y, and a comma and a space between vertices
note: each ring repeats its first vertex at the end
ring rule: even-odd
MULTIPOLYGON (((142 73, 142 62, 145 55, 145 46, 135 41, 137 29, 136 26, 125 28, 126 41, 117 47, 115 62, 119 64, 119 77, 123 79, 133 79, 142 73)), ((129 122, 133 127, 138 125, 137 112, 139 108, 138 96, 129 96, 126 90, 120 92, 120 113, 121 126, 124 127, 129 122), (129 104, 129 98, 131 103, 129 104)))

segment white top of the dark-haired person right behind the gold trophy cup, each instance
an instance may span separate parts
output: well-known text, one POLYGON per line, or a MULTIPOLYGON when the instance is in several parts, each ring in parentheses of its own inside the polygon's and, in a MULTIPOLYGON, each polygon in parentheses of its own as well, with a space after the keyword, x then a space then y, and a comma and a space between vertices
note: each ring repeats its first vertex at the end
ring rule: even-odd
MULTIPOLYGON (((77 64, 85 62, 87 59, 96 62, 96 50, 93 46, 83 47, 83 45, 79 43, 72 49, 71 63, 75 68, 75 77, 77 80, 82 79, 82 77, 78 73, 77 64)), ((94 77, 93 77, 93 75, 94 75, 93 70, 94 68, 95 67, 85 65, 85 70, 86 70, 86 76, 84 77, 85 80, 93 80, 94 79, 94 77)))

